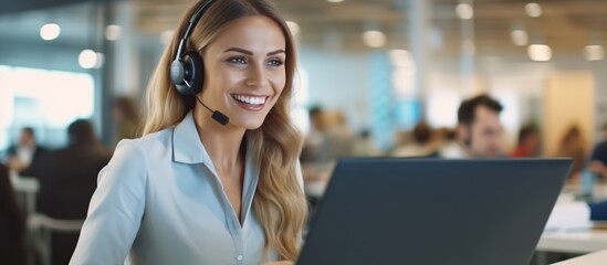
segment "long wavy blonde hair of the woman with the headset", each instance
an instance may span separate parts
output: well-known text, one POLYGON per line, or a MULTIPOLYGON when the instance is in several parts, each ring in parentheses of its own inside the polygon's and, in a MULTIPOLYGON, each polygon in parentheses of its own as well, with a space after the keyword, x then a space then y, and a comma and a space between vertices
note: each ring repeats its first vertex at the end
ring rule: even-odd
MULTIPOLYGON (((170 82, 169 68, 179 44, 179 32, 203 1, 190 7, 180 19, 175 36, 167 45, 146 91, 143 135, 177 125, 193 108, 195 98, 180 95, 170 82)), ((265 0, 216 0, 193 29, 187 51, 202 51, 226 26, 243 17, 264 15, 280 25, 285 38, 286 84, 276 104, 260 128, 249 131, 248 140, 259 158, 261 168, 253 200, 257 218, 265 231, 266 254, 274 248, 281 259, 299 255, 301 230, 307 214, 305 197, 297 181, 297 159, 302 147, 300 131, 289 117, 295 74, 295 47, 284 19, 265 0)))

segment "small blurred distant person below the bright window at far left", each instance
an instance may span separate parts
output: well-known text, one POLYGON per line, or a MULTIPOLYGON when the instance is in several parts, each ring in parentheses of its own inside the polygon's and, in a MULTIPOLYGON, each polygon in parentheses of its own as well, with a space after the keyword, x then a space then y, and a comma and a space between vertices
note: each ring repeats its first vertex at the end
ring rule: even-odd
POLYGON ((17 145, 8 149, 9 168, 20 176, 36 177, 33 171, 44 153, 46 149, 36 144, 33 128, 24 127, 17 145))

